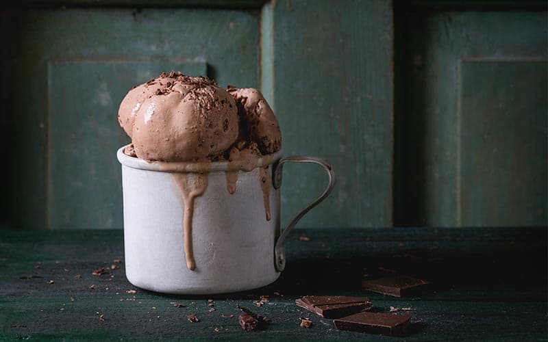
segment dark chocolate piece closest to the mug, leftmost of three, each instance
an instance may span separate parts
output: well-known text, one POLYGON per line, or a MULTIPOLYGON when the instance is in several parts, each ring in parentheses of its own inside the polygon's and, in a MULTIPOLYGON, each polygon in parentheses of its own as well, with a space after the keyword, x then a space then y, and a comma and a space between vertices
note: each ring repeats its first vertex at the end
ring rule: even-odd
POLYGON ((295 303, 324 318, 343 317, 373 307, 369 298, 344 295, 306 295, 295 300, 295 303))

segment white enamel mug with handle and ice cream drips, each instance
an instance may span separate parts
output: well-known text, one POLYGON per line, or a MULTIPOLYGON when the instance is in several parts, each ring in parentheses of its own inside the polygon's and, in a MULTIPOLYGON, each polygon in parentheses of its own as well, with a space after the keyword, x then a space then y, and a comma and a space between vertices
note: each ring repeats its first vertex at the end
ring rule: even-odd
POLYGON ((149 163, 125 155, 124 148, 117 157, 122 164, 126 276, 136 287, 162 293, 229 293, 269 285, 285 267, 288 233, 335 185, 332 167, 316 157, 282 159, 280 151, 243 171, 227 162, 149 163), (281 233, 279 187, 288 162, 323 166, 329 183, 281 233), (177 177, 192 175, 206 177, 207 186, 194 198, 188 233, 177 177), (188 267, 189 257, 194 269, 188 267))

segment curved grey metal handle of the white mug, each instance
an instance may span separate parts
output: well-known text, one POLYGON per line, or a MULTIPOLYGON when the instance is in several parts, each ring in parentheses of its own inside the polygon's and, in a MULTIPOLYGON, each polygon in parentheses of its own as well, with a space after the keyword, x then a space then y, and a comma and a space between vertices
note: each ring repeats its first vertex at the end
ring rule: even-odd
POLYGON ((299 211, 297 215, 291 220, 291 222, 288 224, 288 226, 284 229, 281 235, 279 235, 276 245, 274 247, 274 264, 276 267, 276 270, 278 272, 282 272, 284 268, 286 268, 286 254, 284 253, 284 241, 286 241, 286 238, 288 237, 289 233, 292 231, 293 227, 295 227, 295 224, 301 220, 301 218, 310 211, 310 209, 316 207, 316 205, 319 204, 319 202, 323 201, 329 193, 332 192, 333 187, 335 186, 335 172, 333 171, 333 168, 331 167, 331 164, 329 164, 325 159, 321 159, 318 157, 308 157, 303 155, 295 155, 292 157, 286 157, 282 160, 280 160, 277 164, 274 166, 273 170, 273 185, 275 189, 279 189, 279 187, 282 186, 282 170, 284 163, 316 163, 321 165, 325 172, 327 172, 328 183, 327 187, 325 187, 325 190, 323 190, 323 193, 314 200, 314 202, 310 203, 308 207, 305 209, 299 211))

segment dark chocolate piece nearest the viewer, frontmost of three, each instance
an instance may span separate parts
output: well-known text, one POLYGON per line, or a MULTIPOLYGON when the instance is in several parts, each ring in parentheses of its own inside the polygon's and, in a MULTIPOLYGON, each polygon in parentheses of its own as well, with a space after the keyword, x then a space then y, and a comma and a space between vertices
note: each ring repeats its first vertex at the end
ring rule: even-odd
POLYGON ((403 336, 409 333, 411 315, 395 313, 355 313, 353 315, 335 319, 335 328, 381 334, 389 336, 403 336))

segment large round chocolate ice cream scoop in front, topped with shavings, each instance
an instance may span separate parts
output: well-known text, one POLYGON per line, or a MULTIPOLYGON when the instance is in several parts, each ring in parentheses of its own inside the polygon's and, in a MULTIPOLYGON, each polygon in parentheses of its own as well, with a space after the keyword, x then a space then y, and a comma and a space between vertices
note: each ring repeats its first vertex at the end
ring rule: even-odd
POLYGON ((207 77, 162 73, 130 90, 119 122, 137 157, 193 161, 223 153, 238 137, 234 98, 207 77))

